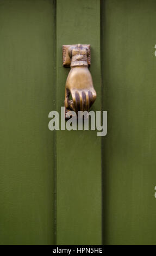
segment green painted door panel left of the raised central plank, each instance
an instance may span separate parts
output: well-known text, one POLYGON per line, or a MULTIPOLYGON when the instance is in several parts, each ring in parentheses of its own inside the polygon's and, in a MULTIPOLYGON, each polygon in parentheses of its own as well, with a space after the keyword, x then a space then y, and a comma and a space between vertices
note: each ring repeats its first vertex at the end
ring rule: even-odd
POLYGON ((0 243, 54 242, 53 1, 0 1, 0 243))

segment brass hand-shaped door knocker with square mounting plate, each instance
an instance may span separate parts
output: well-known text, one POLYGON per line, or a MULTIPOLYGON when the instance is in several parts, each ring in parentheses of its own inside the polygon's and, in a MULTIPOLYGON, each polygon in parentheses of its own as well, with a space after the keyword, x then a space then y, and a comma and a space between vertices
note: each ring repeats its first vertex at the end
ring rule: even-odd
POLYGON ((63 65, 71 66, 65 89, 66 118, 68 111, 88 111, 96 100, 90 64, 90 45, 63 45, 63 65))

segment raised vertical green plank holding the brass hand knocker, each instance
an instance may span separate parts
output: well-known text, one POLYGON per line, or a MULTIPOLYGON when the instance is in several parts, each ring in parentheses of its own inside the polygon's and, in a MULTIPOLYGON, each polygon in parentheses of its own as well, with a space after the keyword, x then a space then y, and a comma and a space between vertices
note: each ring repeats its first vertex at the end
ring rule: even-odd
MULTIPOLYGON (((57 1, 57 109, 64 106, 61 46, 91 44, 91 74, 101 110, 100 2, 57 1)), ((57 243, 101 244, 101 138, 96 131, 57 131, 57 243)))

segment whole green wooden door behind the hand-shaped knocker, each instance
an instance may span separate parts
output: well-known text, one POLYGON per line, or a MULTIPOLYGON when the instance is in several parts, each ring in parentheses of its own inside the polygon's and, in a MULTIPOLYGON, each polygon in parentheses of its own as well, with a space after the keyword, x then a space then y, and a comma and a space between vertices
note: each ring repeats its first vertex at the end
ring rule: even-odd
POLYGON ((156 2, 0 0, 0 243, 155 244, 156 2), (50 131, 61 46, 91 44, 108 134, 50 131))

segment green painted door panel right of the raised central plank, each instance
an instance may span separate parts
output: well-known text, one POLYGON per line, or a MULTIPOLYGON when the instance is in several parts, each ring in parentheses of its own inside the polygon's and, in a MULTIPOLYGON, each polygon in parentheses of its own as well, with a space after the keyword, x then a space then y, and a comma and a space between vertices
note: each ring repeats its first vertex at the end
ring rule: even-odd
POLYGON ((156 2, 102 5, 104 244, 156 243, 156 2))

